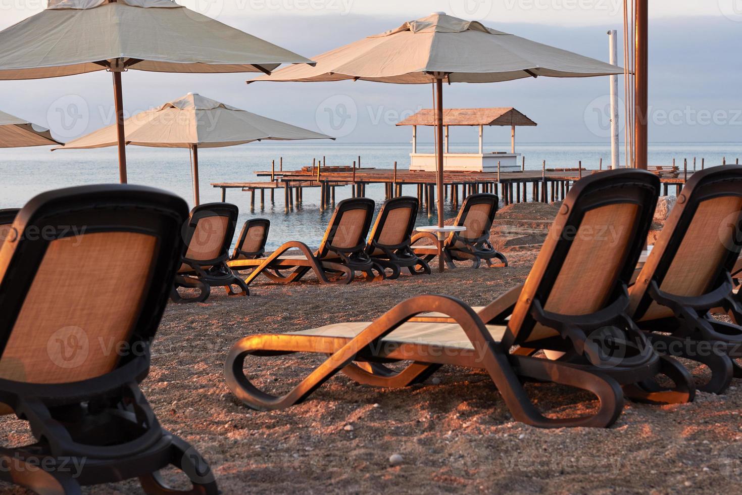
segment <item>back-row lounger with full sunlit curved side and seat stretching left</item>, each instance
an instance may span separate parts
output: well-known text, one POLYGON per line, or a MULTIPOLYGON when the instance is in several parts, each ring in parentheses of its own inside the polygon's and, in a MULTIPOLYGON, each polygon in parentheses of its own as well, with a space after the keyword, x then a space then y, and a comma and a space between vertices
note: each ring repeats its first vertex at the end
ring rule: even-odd
POLYGON ((321 283, 350 283, 355 272, 364 272, 369 279, 384 278, 384 269, 366 254, 366 235, 373 211, 374 202, 367 197, 342 200, 317 251, 312 252, 305 243, 292 240, 267 258, 232 260, 229 267, 236 271, 253 269, 245 279, 247 285, 259 275, 280 283, 297 282, 309 271, 315 272, 321 283), (288 254, 292 251, 299 254, 288 254), (283 270, 291 272, 284 274, 283 270))

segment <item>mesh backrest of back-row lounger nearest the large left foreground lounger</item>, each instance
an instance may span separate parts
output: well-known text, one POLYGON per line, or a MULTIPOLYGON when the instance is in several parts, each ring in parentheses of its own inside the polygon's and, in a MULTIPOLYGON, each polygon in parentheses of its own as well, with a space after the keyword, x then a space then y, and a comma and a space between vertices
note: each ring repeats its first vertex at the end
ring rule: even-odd
POLYGON ((183 228, 185 260, 206 266, 226 260, 237 226, 237 206, 206 203, 191 210, 183 228))

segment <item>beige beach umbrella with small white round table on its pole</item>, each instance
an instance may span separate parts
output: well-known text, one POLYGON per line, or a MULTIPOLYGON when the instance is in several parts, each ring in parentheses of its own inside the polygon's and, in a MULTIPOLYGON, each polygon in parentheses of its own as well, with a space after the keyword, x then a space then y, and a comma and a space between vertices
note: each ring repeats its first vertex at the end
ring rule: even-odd
MULTIPOLYGON (((288 67, 256 81, 358 79, 436 88, 438 223, 443 226, 443 83, 502 82, 527 77, 588 77, 623 73, 622 68, 567 50, 433 13, 400 27, 316 56, 314 67, 288 67)), ((440 253, 439 267, 443 270, 440 253)))

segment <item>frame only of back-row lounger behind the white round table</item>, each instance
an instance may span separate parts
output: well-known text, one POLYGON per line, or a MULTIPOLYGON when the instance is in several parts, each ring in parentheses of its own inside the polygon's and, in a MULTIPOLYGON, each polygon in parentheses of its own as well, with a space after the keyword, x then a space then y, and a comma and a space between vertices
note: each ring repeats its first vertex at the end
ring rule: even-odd
MULTIPOLYGON (((459 215, 456 217, 454 225, 463 226, 471 207, 482 203, 487 203, 491 206, 490 214, 487 218, 487 225, 482 229, 483 234, 476 239, 467 239, 462 237, 461 232, 452 232, 444 241, 444 260, 450 269, 456 268, 453 264, 454 260, 471 261, 472 267, 475 269, 481 266, 482 260, 485 260, 487 266, 493 266, 493 259, 500 261, 497 266, 508 266, 508 258, 505 258, 505 255, 497 251, 492 244, 490 244, 490 229, 492 228, 492 223, 497 214, 499 197, 495 194, 489 193, 470 194, 466 199, 464 199, 464 203, 462 203, 462 207, 459 209, 459 215), (457 246, 459 243, 462 245, 457 246)), ((436 258, 437 250, 436 253, 433 253, 427 249, 416 249, 414 244, 421 239, 433 240, 437 246, 439 242, 438 238, 430 232, 419 232, 412 238, 413 251, 416 255, 423 257, 425 261, 430 262, 430 260, 436 258)))

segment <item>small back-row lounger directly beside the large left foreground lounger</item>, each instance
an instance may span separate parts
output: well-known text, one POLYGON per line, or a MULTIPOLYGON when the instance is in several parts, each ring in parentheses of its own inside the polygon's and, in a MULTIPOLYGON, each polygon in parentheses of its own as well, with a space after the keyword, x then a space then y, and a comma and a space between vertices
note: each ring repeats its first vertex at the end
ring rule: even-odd
POLYGON ((178 269, 171 299, 177 303, 202 303, 211 287, 224 287, 228 295, 250 295, 246 283, 227 266, 229 246, 237 225, 237 206, 230 203, 206 203, 191 210, 183 227, 188 249, 178 269), (232 286, 237 286, 237 291, 232 286), (184 297, 180 287, 198 289, 199 295, 184 297))

